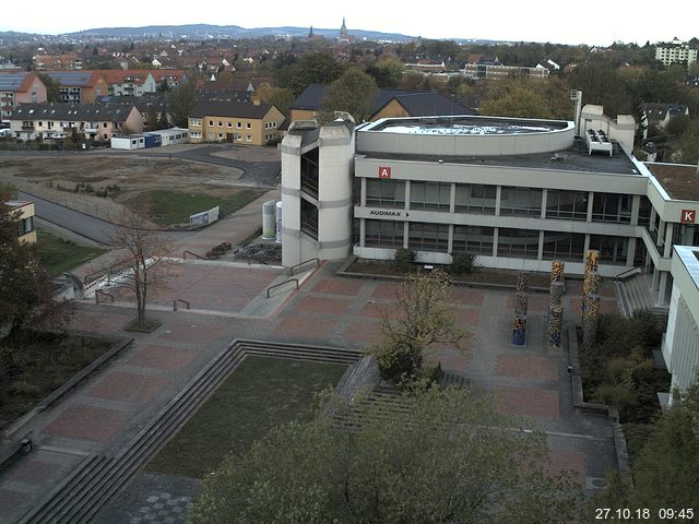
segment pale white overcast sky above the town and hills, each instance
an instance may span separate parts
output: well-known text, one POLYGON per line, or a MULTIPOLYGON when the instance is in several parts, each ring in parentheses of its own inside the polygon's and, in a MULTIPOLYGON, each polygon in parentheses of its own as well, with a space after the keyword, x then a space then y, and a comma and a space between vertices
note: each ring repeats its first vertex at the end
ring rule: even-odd
POLYGON ((650 0, 262 0, 233 2, 141 1, 64 3, 11 2, 0 31, 60 34, 96 27, 216 24, 246 28, 301 26, 383 31, 427 38, 486 38, 556 44, 609 45, 615 40, 688 40, 699 36, 696 0, 673 2, 673 13, 650 0), (186 5, 186 9, 180 7, 186 5), (690 5, 695 5, 691 8, 690 5))

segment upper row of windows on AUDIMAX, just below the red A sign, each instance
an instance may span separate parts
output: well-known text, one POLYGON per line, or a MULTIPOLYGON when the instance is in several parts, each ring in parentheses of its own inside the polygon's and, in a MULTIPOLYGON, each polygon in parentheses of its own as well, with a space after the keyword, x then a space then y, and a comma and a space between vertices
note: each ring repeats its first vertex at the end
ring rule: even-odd
MULTIPOLYGON (((449 212, 451 183, 411 182, 410 209, 449 212)), ((379 207, 405 207, 405 181, 367 179, 366 205, 379 207)), ((500 215, 542 216, 543 190, 502 186, 500 189, 500 215)), ((546 218, 585 221, 588 218, 587 191, 560 191, 549 189, 546 194, 546 218)), ((457 183, 454 212, 495 215, 497 187, 457 183)), ((592 219, 594 222, 631 223, 632 195, 594 193, 592 219)), ((643 210, 642 210, 643 211, 643 210)), ((640 219, 640 216, 639 216, 640 219)))

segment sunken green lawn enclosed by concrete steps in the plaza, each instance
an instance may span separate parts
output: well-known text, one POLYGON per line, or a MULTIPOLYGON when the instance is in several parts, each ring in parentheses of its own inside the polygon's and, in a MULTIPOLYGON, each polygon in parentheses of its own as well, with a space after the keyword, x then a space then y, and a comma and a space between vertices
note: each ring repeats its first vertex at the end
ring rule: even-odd
POLYGON ((313 393, 334 386, 346 366, 247 357, 146 469, 203 478, 273 426, 308 417, 313 393))

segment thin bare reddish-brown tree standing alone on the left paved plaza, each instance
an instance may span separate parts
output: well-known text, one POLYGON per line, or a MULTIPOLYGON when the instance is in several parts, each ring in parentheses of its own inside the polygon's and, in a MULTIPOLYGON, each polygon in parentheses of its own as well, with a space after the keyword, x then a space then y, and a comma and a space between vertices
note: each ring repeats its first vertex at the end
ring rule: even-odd
POLYGON ((114 266, 123 273, 119 287, 133 294, 137 305, 137 322, 146 325, 145 305, 151 291, 167 287, 170 272, 167 257, 170 243, 162 230, 149 219, 150 206, 138 203, 125 207, 110 235, 112 246, 119 248, 114 266))

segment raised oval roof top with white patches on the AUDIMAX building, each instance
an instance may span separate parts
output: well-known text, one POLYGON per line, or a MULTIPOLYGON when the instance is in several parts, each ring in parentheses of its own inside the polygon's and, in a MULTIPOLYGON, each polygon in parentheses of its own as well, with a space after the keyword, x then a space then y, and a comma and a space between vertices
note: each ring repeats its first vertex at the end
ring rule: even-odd
POLYGON ((562 120, 536 120, 524 118, 451 116, 422 118, 388 118, 362 131, 430 135, 484 135, 548 133, 567 129, 562 120))

